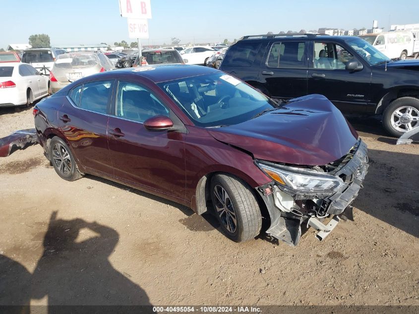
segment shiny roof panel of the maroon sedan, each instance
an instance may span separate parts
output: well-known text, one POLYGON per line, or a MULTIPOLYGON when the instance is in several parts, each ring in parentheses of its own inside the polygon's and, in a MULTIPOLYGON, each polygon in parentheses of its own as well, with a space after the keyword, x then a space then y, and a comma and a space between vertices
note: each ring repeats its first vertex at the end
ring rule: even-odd
POLYGON ((106 78, 116 78, 115 76, 120 76, 120 78, 127 76, 142 76, 145 77, 154 83, 172 81, 181 78, 187 78, 192 76, 198 76, 209 73, 220 72, 212 67, 202 66, 202 65, 192 65, 192 64, 155 64, 155 65, 146 65, 140 67, 128 67, 116 69, 113 71, 102 72, 94 75, 90 75, 85 79, 97 79, 99 77, 106 78))

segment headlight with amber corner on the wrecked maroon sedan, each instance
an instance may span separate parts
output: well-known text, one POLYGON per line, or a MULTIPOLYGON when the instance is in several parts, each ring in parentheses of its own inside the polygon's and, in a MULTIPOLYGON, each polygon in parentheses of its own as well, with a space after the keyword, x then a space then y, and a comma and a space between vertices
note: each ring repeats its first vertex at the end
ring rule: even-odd
POLYGON ((276 181, 279 188, 291 194, 330 195, 345 186, 342 179, 327 173, 283 165, 268 165, 259 161, 256 165, 276 181))

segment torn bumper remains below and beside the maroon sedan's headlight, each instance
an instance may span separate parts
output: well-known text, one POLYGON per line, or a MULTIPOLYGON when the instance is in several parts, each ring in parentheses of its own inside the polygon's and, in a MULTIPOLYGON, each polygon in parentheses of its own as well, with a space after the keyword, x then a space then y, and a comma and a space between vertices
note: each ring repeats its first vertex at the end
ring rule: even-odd
POLYGON ((278 206, 278 184, 272 182, 257 188, 271 219, 271 225, 266 232, 280 241, 296 246, 301 236, 301 226, 313 227, 318 231, 317 239, 323 240, 336 227, 341 217, 353 220, 351 203, 358 196, 367 171, 367 146, 359 139, 353 152, 348 154, 334 171, 329 172, 345 183, 343 188, 332 195, 293 195, 292 210, 284 211, 278 206), (329 218, 332 218, 329 223, 323 224, 322 221, 329 218))

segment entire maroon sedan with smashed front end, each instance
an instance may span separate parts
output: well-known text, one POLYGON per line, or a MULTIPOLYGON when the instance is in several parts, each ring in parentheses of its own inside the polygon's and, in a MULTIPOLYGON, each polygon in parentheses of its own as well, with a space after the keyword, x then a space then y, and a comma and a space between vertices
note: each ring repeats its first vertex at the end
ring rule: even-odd
POLYGON ((324 239, 351 217, 368 167, 366 145, 325 97, 280 103, 204 66, 85 77, 38 103, 34 116, 61 178, 100 176, 197 214, 212 204, 237 242, 256 237, 262 217, 264 231, 290 245, 306 226, 324 239))

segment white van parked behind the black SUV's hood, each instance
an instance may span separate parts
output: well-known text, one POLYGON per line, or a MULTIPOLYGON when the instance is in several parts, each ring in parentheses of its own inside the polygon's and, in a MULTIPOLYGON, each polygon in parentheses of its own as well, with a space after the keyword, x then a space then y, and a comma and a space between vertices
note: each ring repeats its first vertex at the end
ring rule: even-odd
POLYGON ((388 58, 405 60, 406 57, 412 56, 414 53, 415 39, 411 31, 383 32, 359 37, 373 45, 388 58))

